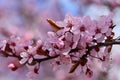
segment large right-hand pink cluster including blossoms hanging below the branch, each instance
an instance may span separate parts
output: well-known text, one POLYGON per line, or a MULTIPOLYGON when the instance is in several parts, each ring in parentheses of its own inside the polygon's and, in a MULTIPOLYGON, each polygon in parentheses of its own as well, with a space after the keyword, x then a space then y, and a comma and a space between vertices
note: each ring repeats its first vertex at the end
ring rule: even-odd
MULTIPOLYGON (((92 62, 91 58, 104 61, 104 63, 109 62, 110 51, 106 52, 107 47, 104 49, 97 45, 113 38, 114 25, 111 14, 101 16, 98 20, 92 20, 88 16, 80 18, 67 14, 64 21, 58 21, 56 24, 61 28, 48 32, 48 38, 43 45, 43 49, 48 51, 50 56, 64 55, 66 60, 69 56, 70 61, 78 61, 81 66, 92 62), (91 49, 92 47, 94 49, 91 49)), ((70 72, 73 72, 77 65, 74 64, 70 72)), ((92 75, 88 67, 86 72, 92 75)))

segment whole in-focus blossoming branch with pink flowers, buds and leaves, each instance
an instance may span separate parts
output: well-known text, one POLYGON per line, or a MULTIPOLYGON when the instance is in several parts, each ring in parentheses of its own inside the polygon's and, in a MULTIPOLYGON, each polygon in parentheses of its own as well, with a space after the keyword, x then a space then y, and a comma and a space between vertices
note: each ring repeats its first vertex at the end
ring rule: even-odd
MULTIPOLYGON (((24 41, 12 36, 1 41, 1 56, 17 58, 20 65, 34 66, 33 71, 37 74, 42 61, 56 59, 59 65, 72 64, 70 73, 80 66, 85 67, 86 75, 92 76, 92 61, 97 59, 108 64, 112 45, 119 44, 113 42, 112 15, 92 20, 88 16, 81 18, 67 14, 64 21, 47 21, 54 30, 48 32, 46 41, 24 41)), ((19 67, 14 63, 8 65, 11 70, 19 67)))

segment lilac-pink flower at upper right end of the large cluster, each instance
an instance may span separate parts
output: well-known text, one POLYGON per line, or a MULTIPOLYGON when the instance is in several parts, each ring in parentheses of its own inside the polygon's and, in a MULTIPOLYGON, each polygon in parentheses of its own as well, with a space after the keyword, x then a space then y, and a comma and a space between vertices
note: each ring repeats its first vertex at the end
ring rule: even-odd
MULTIPOLYGON (((98 21, 96 21, 95 28, 95 39, 99 39, 101 37, 109 36, 111 34, 112 25, 112 15, 109 16, 101 16, 98 21)), ((104 38, 102 39, 104 40, 104 38)))

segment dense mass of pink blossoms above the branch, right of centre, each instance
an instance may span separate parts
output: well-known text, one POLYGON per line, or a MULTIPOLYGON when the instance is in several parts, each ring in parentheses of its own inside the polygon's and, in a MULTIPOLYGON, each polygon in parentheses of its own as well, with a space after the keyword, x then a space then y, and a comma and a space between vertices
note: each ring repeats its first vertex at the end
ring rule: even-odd
POLYGON ((57 32, 48 32, 45 46, 49 46, 46 49, 50 52, 58 51, 64 55, 68 55, 75 48, 78 48, 78 52, 81 53, 87 46, 95 45, 94 40, 103 42, 106 36, 110 36, 112 33, 110 30, 112 17, 110 15, 101 16, 98 20, 91 20, 88 16, 79 18, 67 14, 63 22, 56 23, 62 29, 57 32))

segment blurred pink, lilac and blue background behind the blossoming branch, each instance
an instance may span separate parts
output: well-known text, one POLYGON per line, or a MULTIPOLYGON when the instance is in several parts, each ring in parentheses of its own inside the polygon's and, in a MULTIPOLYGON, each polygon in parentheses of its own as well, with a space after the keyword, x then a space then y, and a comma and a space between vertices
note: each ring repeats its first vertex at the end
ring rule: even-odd
MULTIPOLYGON (((0 0, 0 40, 10 35, 21 36, 24 40, 45 40, 47 32, 52 30, 46 19, 54 21, 63 20, 65 14, 74 16, 90 16, 97 19, 100 15, 113 13, 113 21, 116 24, 115 37, 119 36, 120 30, 120 0, 0 0)), ((113 63, 108 73, 101 67, 96 69, 96 75, 91 80, 120 80, 120 56, 119 46, 112 50, 113 63)), ((28 79, 28 69, 22 67, 13 72, 8 69, 9 59, 0 57, 0 80, 86 80, 78 76, 79 72, 69 74, 69 65, 53 68, 52 60, 42 63, 39 75, 36 79, 28 79)), ((79 74, 80 75, 80 74, 79 74)))

